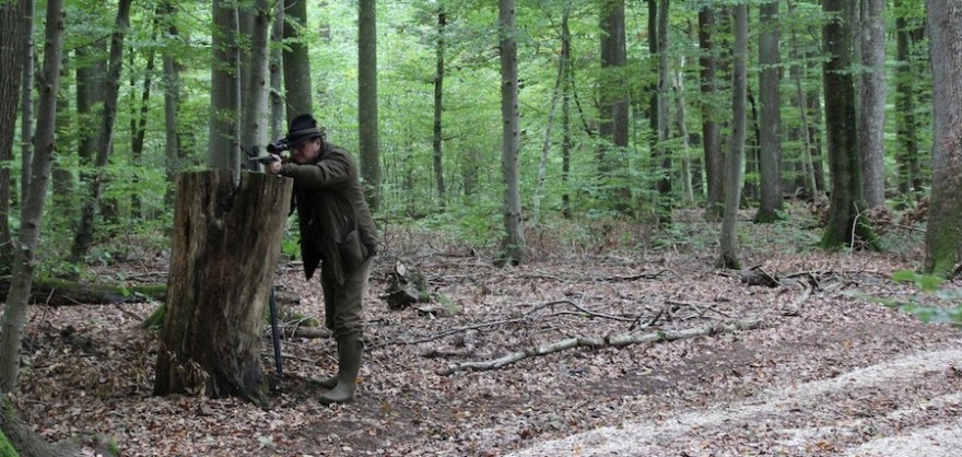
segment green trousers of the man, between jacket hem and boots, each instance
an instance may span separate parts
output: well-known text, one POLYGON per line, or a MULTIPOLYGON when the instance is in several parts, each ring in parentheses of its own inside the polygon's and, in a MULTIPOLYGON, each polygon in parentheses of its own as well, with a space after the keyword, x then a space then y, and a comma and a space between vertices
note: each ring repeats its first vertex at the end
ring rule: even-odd
POLYGON ((367 293, 372 258, 367 258, 354 271, 344 272, 344 283, 338 284, 333 274, 320 268, 320 288, 324 291, 324 325, 333 332, 335 339, 364 333, 362 304, 367 293))

